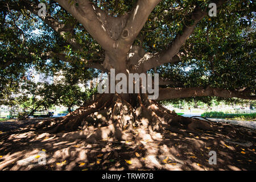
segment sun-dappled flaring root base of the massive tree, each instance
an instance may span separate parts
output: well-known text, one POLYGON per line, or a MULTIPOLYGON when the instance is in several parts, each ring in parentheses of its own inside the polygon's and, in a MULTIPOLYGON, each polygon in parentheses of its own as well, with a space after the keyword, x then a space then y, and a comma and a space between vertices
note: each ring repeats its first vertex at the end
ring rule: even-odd
POLYGON ((85 138, 88 143, 102 139, 158 140, 164 130, 182 134, 213 130, 209 122, 179 116, 148 100, 147 94, 137 94, 135 104, 132 97, 129 103, 119 94, 102 94, 65 117, 41 122, 38 129, 71 140, 85 138))

